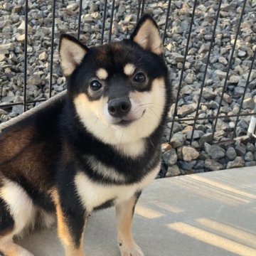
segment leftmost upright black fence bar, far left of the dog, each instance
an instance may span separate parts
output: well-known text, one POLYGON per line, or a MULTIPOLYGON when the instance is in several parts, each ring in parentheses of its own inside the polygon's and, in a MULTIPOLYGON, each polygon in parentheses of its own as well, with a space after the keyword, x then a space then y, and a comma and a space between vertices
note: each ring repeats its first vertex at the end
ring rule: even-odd
POLYGON ((23 111, 24 112, 26 112, 27 69, 28 69, 28 0, 25 1, 24 84, 23 84, 23 111))

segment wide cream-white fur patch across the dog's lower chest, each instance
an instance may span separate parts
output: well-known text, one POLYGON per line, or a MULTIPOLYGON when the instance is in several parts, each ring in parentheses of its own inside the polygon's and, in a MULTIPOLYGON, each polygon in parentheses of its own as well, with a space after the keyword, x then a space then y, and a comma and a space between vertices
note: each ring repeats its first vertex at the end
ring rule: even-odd
POLYGON ((149 171, 149 174, 142 181, 132 185, 119 186, 96 183, 88 178, 86 174, 80 172, 75 176, 75 186, 82 204, 90 212, 96 206, 112 199, 114 199, 115 204, 127 201, 134 193, 141 191, 149 182, 153 181, 158 171, 159 165, 149 171))

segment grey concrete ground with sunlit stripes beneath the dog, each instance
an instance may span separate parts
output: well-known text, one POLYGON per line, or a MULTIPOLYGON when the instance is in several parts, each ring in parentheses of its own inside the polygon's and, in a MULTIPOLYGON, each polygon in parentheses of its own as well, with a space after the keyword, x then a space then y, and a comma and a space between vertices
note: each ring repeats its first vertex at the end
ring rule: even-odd
MULTIPOLYGON (((145 256, 256 255, 256 167, 156 180, 134 217, 145 256)), ((19 242, 36 256, 64 255, 55 228, 19 242)), ((87 256, 118 256, 114 209, 87 223, 87 256)))

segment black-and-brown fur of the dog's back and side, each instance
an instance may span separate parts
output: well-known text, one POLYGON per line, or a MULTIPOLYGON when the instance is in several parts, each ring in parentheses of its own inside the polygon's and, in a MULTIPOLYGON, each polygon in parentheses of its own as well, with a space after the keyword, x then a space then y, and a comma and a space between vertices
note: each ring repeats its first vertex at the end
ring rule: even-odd
POLYGON ((38 206, 46 204, 43 191, 53 183, 54 167, 61 154, 58 130, 64 102, 65 95, 56 97, 5 125, 0 133, 2 186, 6 179, 16 181, 38 206))

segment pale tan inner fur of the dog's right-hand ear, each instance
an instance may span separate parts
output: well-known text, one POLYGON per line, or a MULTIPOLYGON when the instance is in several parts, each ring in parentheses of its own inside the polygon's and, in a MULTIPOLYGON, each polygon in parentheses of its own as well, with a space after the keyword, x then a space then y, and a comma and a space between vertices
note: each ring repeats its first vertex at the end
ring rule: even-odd
POLYGON ((161 54, 164 52, 159 30, 149 19, 139 28, 137 35, 134 36, 134 42, 153 53, 161 54))

